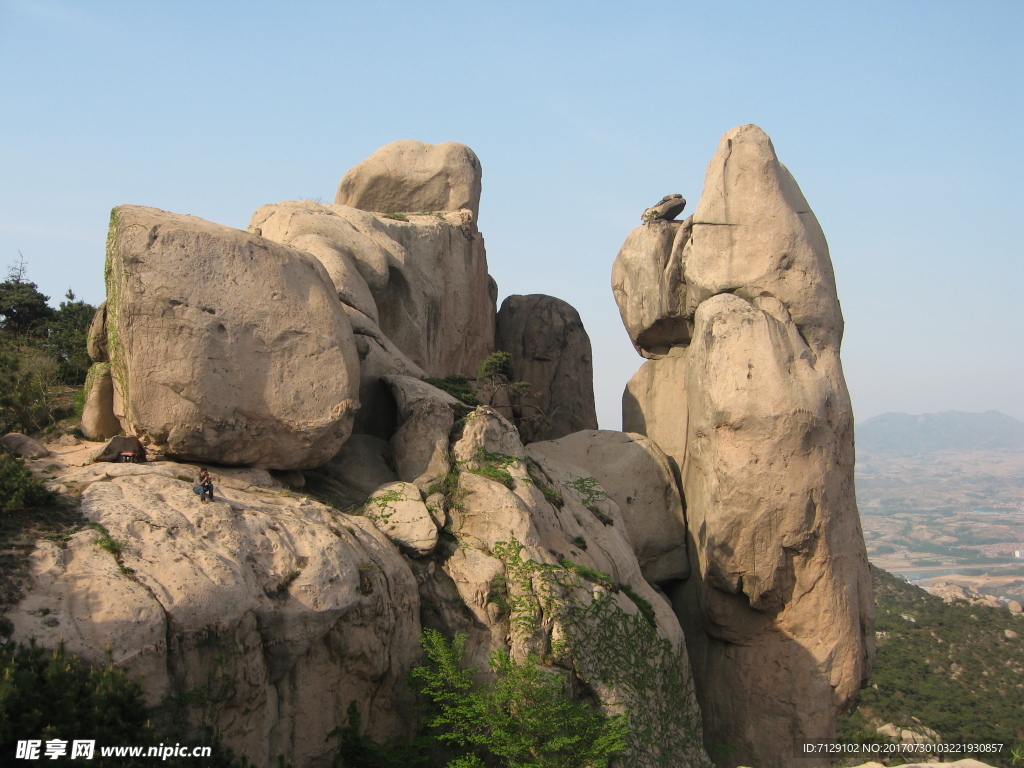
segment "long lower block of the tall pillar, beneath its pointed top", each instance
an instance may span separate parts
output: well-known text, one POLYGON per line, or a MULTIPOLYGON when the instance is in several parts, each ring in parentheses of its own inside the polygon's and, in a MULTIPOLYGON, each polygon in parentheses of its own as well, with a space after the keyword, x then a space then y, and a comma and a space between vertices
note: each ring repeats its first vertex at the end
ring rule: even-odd
POLYGON ((838 350, 813 354, 777 299, 723 294, 697 308, 685 370, 695 578, 675 605, 706 741, 784 766, 777 744, 831 734, 873 657, 838 350))

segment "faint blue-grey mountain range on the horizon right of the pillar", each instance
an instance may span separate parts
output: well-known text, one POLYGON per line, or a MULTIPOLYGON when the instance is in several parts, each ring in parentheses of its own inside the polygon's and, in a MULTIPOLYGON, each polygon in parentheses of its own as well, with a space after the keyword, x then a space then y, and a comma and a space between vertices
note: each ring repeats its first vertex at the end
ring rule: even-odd
POLYGON ((883 414, 857 425, 857 450, 902 455, 947 450, 1024 452, 1024 422, 997 411, 883 414))

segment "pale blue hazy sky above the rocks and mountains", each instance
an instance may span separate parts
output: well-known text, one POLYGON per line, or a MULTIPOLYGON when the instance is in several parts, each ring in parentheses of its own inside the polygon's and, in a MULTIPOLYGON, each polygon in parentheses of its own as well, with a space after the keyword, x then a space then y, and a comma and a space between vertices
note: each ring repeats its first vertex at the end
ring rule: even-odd
POLYGON ((0 0, 0 267, 98 303, 115 205, 244 228, 395 139, 462 141, 500 299, 580 310, 617 429, 615 253, 756 123, 828 238, 857 420, 1024 419, 1022 30, 1020 0, 0 0))

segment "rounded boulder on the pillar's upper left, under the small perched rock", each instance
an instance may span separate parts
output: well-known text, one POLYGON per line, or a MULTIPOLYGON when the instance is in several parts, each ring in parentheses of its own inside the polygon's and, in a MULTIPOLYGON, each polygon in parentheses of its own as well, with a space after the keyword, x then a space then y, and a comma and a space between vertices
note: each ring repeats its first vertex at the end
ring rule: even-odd
POLYGON ((611 266, 611 292, 633 346, 644 357, 662 357, 688 344, 682 246, 693 219, 652 220, 638 226, 611 266))

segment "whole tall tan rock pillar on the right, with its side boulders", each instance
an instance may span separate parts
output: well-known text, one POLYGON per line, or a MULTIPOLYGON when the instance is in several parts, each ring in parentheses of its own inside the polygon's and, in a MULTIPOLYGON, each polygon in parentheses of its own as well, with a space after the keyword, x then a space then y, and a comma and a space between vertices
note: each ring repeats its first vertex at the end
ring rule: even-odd
POLYGON ((722 138, 689 225, 644 225, 616 259, 627 330, 660 357, 624 426, 679 472, 693 574, 673 600, 709 749, 781 766, 781 744, 834 732, 873 652, 842 314, 821 229, 756 126, 722 138))

